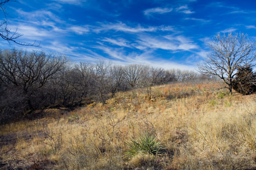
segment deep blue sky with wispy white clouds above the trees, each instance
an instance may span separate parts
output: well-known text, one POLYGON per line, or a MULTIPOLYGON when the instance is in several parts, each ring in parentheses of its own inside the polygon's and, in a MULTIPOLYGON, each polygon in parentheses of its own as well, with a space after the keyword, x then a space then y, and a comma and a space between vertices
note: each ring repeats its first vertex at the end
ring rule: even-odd
POLYGON ((5 7, 8 27, 23 34, 18 40, 41 47, 1 39, 2 49, 44 50, 71 62, 193 70, 217 33, 256 37, 256 1, 18 0, 5 7))

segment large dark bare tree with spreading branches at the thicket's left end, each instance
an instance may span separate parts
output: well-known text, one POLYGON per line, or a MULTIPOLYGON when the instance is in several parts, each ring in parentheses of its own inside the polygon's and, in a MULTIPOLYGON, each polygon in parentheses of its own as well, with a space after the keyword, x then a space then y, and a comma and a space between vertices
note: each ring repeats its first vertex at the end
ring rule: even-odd
POLYGON ((66 62, 44 52, 0 51, 0 113, 12 116, 48 106, 48 83, 66 62))

